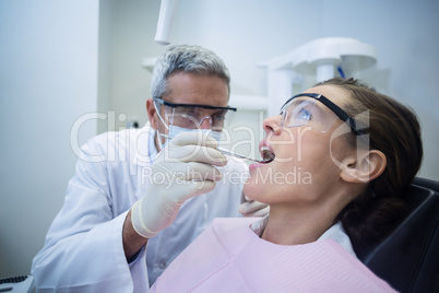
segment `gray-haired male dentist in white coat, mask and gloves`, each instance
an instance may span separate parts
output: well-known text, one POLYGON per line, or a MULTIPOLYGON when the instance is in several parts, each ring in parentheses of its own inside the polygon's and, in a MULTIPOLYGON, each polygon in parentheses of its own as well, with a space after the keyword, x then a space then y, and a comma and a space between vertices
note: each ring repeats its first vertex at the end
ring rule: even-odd
POLYGON ((82 146, 32 265, 37 292, 146 292, 214 218, 266 214, 266 204, 240 204, 247 166, 216 150, 236 110, 224 62, 169 47, 151 89, 150 124, 82 146))

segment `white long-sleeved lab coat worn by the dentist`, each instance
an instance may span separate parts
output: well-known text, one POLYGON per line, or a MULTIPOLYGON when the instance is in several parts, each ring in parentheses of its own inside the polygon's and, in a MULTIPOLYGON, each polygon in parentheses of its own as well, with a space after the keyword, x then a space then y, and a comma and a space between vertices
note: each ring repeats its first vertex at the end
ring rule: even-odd
POLYGON ((97 136, 82 146, 64 204, 32 263, 37 292, 146 292, 147 270, 155 280, 214 218, 239 216, 247 167, 229 159, 215 189, 185 202, 176 221, 128 263, 122 225, 153 176, 152 145, 146 125, 97 136))

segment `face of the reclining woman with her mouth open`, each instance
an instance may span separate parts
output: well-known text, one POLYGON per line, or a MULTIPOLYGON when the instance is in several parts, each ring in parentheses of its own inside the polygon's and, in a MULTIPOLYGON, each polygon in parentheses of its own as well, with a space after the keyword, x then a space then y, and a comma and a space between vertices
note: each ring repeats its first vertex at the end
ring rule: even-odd
MULTIPOLYGON (((349 98, 343 90, 318 86, 306 91, 327 96, 343 108, 349 98)), ((319 103, 320 104, 320 103, 319 103)), ((323 104, 319 110, 329 112, 323 104)), ((309 126, 281 127, 281 115, 264 120, 266 138, 261 149, 270 149, 275 159, 268 164, 250 165, 250 178, 245 185, 247 197, 273 204, 317 204, 340 180, 341 169, 334 159, 342 162, 352 148, 344 137, 333 136, 334 130, 347 127, 337 119, 327 132, 309 126), (331 146, 331 148, 330 148, 331 146)), ((263 155, 263 151, 262 151, 263 155)))

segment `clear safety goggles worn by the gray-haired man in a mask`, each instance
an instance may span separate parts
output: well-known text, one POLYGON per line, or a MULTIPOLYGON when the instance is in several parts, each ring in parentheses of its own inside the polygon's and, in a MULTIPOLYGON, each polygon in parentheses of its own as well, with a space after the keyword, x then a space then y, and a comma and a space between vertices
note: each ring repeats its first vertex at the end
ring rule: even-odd
MULTIPOLYGON (((205 121, 212 130, 221 131, 226 127, 236 112, 234 107, 218 107, 200 104, 177 104, 154 97, 154 102, 165 107, 165 117, 169 125, 188 129, 202 128, 205 121)), ((158 114, 159 105, 156 104, 158 114)))

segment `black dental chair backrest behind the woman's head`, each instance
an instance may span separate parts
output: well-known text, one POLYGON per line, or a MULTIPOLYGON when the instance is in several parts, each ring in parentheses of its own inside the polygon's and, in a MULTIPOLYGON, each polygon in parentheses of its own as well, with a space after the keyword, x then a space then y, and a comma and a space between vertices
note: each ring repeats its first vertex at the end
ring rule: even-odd
POLYGON ((411 213, 381 244, 358 258, 399 292, 439 292, 439 181, 415 178, 411 213))

